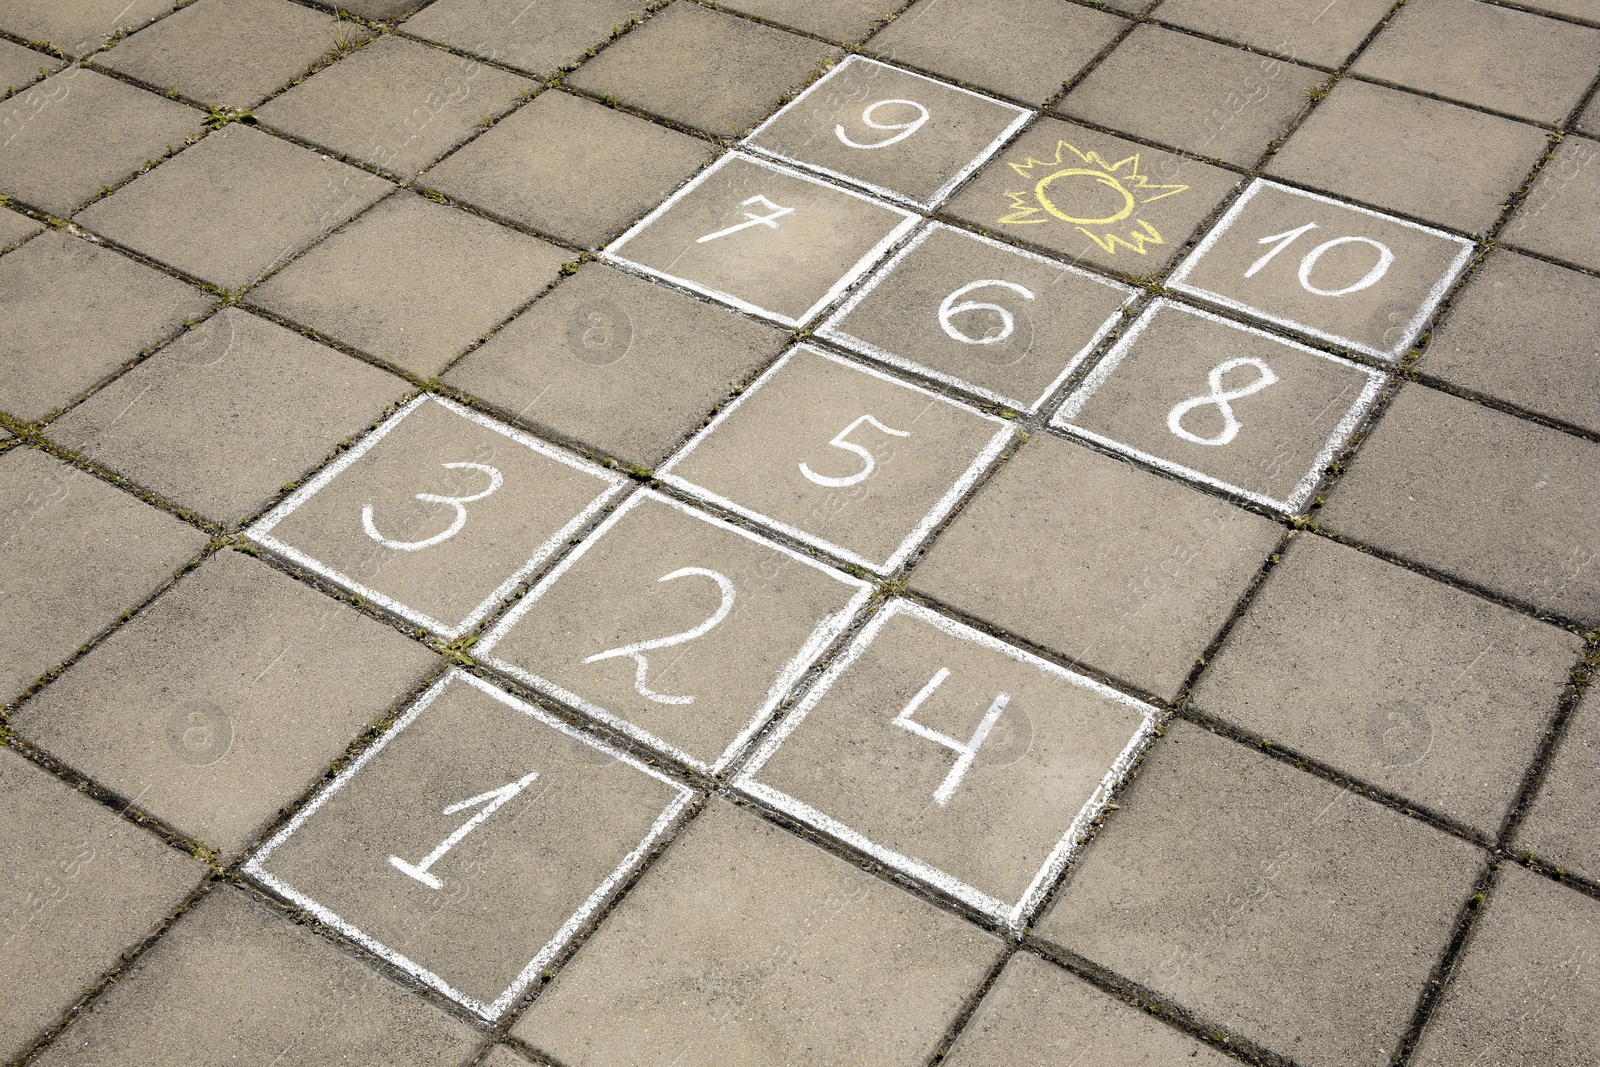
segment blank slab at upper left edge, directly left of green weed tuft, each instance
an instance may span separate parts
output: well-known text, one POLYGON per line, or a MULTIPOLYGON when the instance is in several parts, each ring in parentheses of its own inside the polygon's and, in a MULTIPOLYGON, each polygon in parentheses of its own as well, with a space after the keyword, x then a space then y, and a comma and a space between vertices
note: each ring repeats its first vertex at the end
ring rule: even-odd
POLYGON ((70 216, 200 130, 192 107, 70 67, 0 104, 0 190, 70 216))

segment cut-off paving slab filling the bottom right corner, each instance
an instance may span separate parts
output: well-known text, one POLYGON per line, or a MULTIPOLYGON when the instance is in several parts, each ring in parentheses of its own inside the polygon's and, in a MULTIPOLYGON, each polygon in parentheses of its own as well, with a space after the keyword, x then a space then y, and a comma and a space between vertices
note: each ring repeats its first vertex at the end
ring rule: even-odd
POLYGON ((1600 902, 1509 864, 1411 1062, 1592 1061, 1597 957, 1600 902))

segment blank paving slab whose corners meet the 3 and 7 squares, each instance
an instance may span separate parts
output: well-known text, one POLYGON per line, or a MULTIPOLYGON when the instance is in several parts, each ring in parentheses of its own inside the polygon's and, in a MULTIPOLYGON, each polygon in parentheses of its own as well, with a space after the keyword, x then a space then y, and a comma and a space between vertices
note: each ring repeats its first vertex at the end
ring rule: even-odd
POLYGON ((250 302, 432 378, 560 277, 565 259, 549 242, 402 192, 250 302))

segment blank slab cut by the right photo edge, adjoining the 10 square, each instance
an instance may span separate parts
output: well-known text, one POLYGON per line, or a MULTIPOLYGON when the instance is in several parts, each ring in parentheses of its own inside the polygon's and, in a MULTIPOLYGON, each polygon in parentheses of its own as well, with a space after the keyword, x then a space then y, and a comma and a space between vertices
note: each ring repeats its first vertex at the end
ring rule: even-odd
POLYGON ((1600 434, 1600 278, 1491 251, 1418 370, 1600 434))

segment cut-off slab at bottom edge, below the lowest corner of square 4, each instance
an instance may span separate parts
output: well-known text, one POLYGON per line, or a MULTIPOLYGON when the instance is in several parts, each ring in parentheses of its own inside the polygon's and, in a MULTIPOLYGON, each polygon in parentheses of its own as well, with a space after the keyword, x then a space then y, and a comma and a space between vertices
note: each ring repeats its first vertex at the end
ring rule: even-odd
POLYGON ((1237 1062, 1027 952, 1011 957, 941 1062, 1010 1067, 1029 1062, 1040 1049, 1091 1061, 1099 1053, 1114 1056, 1122 1067, 1237 1062))

